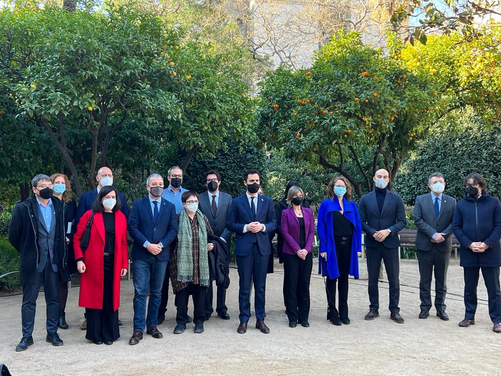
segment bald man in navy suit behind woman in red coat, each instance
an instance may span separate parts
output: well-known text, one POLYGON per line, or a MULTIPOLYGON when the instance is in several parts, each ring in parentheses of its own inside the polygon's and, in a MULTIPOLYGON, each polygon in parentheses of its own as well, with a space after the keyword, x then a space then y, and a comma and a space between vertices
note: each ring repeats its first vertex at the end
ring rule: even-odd
MULTIPOLYGON (((77 228, 78 222, 80 221, 80 218, 87 212, 88 210, 92 209, 92 205, 94 204, 94 201, 96 200, 97 194, 101 190, 101 188, 105 185, 112 185, 113 184, 113 172, 109 167, 101 167, 97 171, 96 175, 96 180, 97 180, 97 188, 94 188, 93 190, 84 193, 79 201, 78 201, 78 207, 77 211, 75 213, 75 228, 77 228)), ((120 210, 124 214, 125 218, 129 218, 129 206, 127 205, 127 200, 125 199, 125 195, 121 192, 117 192, 117 196, 120 198, 120 202, 122 203, 122 207, 120 210)), ((122 321, 118 320, 119 324, 122 325, 122 321)), ((87 329, 87 319, 82 322, 82 325, 80 325, 80 329, 85 330, 87 329)))

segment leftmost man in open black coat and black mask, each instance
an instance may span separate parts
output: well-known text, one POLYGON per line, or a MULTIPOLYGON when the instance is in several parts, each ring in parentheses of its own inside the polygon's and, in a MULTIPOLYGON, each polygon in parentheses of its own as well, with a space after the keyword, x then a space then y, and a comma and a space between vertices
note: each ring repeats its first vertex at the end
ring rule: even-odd
POLYGON ((23 284, 23 338, 16 351, 26 350, 33 344, 35 310, 42 280, 47 304, 46 341, 54 346, 63 345, 57 330, 59 280, 69 280, 64 211, 61 202, 52 197, 53 185, 49 176, 36 175, 32 187, 32 197, 14 208, 9 227, 9 241, 21 254, 20 279, 23 284))

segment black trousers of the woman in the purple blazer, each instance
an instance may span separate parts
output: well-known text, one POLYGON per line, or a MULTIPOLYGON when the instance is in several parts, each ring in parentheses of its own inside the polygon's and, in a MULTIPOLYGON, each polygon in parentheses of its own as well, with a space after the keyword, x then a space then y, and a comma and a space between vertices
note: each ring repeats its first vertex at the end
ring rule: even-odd
POLYGON ((310 277, 313 254, 304 260, 298 255, 282 254, 284 261, 284 301, 289 321, 308 321, 310 314, 310 277))

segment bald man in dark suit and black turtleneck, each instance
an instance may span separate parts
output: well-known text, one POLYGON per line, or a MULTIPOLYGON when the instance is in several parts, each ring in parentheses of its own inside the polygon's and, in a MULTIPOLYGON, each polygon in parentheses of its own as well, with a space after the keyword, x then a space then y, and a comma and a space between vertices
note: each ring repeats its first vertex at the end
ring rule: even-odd
POLYGON ((390 285, 390 318, 402 324, 404 319, 398 307, 400 297, 398 232, 407 224, 404 203, 400 196, 388 190, 390 176, 384 168, 376 171, 373 180, 376 185, 374 191, 363 195, 358 204, 362 230, 366 234, 365 246, 369 274, 370 305, 365 319, 373 320, 379 316, 378 278, 381 259, 383 259, 390 285))

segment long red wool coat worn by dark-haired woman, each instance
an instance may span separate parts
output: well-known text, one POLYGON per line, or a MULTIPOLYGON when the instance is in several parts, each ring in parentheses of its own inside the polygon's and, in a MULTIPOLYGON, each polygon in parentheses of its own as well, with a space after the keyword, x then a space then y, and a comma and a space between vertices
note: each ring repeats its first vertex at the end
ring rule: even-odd
MULTIPOLYGON (((85 308, 103 308, 104 284, 104 222, 102 213, 94 214, 91 227, 89 247, 82 253, 80 240, 89 222, 91 211, 87 211, 80 219, 77 232, 73 237, 75 259, 83 257, 86 270, 80 274, 80 298, 78 305, 85 308)), ((120 273, 128 269, 127 253, 127 221, 120 211, 115 212, 115 260, 113 269, 113 310, 120 306, 120 273)))

